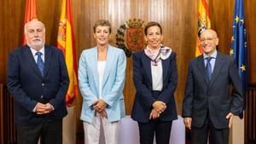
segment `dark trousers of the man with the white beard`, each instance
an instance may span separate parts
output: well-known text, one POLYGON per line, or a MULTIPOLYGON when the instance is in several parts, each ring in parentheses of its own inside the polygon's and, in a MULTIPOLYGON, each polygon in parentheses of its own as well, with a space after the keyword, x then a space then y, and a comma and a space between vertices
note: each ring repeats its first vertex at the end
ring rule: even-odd
POLYGON ((62 144, 62 120, 40 124, 17 124, 18 144, 62 144))

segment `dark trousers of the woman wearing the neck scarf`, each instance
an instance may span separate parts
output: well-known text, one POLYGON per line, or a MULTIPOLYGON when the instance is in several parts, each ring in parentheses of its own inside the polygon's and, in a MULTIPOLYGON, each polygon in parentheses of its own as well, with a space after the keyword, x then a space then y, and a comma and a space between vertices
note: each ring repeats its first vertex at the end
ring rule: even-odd
POLYGON ((153 144, 154 133, 157 144, 169 144, 172 121, 160 119, 149 120, 148 123, 138 123, 141 144, 153 144))

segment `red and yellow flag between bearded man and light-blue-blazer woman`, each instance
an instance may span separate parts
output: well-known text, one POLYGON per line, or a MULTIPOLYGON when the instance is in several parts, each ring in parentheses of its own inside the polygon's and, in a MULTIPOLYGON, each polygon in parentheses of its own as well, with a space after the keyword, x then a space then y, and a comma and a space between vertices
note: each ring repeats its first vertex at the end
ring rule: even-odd
POLYGON ((78 95, 78 68, 76 64, 73 18, 70 0, 62 1, 57 47, 62 50, 67 64, 70 84, 67 90, 66 103, 67 107, 71 107, 75 96, 78 95))

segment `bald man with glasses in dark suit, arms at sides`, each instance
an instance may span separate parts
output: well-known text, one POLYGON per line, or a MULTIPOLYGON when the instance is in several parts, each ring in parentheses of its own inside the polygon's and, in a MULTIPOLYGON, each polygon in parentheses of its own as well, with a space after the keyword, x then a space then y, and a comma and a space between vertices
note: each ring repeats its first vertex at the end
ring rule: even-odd
POLYGON ((193 144, 207 144, 209 131, 212 144, 228 144, 232 118, 243 110, 241 79, 234 58, 216 50, 217 33, 207 29, 200 37, 203 55, 189 63, 184 124, 191 129, 193 144))

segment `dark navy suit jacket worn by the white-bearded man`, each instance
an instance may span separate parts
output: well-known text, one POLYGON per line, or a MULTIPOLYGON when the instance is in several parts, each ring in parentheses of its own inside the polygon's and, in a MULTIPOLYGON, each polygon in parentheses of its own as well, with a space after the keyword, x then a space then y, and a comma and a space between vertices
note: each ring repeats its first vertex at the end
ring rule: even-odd
POLYGON ((16 102, 17 124, 38 124, 42 120, 54 121, 67 115, 65 95, 69 79, 63 54, 49 45, 44 49, 44 77, 27 45, 9 54, 7 86, 16 102), (32 111, 38 102, 49 102, 55 110, 37 115, 32 111))

